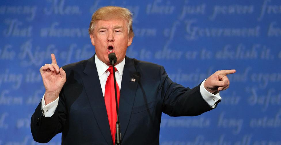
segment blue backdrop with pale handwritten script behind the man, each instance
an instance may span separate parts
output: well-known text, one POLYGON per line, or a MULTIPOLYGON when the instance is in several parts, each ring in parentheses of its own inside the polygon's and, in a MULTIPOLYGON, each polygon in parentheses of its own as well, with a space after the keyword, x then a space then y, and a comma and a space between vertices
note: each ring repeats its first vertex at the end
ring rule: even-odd
POLYGON ((160 144, 281 144, 280 0, 2 0, 0 145, 39 144, 30 131, 45 91, 39 68, 51 53, 59 66, 90 58, 91 16, 106 5, 134 14, 127 56, 163 65, 174 82, 194 87, 217 70, 237 70, 215 110, 163 114, 160 144))

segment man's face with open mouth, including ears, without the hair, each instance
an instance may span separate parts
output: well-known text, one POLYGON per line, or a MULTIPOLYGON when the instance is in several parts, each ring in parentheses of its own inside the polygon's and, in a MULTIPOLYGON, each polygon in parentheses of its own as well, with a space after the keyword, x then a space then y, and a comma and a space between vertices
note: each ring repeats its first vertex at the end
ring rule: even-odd
POLYGON ((120 63, 133 40, 129 38, 128 24, 123 19, 98 20, 90 38, 98 59, 107 65, 110 65, 108 54, 112 52, 116 54, 116 64, 120 63))

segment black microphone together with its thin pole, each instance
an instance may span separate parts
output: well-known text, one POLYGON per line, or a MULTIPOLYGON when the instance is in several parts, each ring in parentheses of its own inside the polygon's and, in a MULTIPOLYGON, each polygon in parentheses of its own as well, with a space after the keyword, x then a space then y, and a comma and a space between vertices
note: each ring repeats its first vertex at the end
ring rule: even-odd
POLYGON ((116 78, 115 78, 115 67, 114 67, 114 63, 116 63, 117 61, 115 53, 114 52, 110 53, 108 55, 108 59, 109 61, 111 61, 113 67, 114 92, 115 92, 115 103, 116 103, 116 114, 117 114, 115 145, 121 145, 121 131, 120 131, 120 123, 119 123, 119 115, 118 115, 118 100, 117 100, 116 78))

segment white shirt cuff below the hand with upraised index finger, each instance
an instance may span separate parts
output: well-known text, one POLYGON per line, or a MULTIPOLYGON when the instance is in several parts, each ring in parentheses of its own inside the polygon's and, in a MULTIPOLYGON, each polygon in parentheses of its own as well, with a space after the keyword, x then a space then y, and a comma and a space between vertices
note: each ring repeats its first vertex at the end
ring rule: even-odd
POLYGON ((49 103, 47 105, 45 105, 44 96, 45 96, 45 94, 43 95, 43 98, 41 100, 42 114, 45 117, 51 117, 54 114, 54 112, 55 112, 55 110, 56 110, 56 108, 58 106, 58 98, 60 96, 58 96, 58 98, 55 101, 52 101, 51 103, 49 103))

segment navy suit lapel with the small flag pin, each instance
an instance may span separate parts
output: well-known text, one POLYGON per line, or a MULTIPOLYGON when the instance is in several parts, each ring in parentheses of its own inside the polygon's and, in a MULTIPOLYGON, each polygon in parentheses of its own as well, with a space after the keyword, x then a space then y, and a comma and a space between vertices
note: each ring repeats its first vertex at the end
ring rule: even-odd
POLYGON ((123 139, 127 130, 132 108, 134 105, 134 99, 136 95, 136 89, 138 86, 139 75, 134 67, 133 59, 125 57, 126 62, 122 75, 120 100, 119 100, 119 122, 121 128, 121 137, 123 139), (135 79, 135 80, 134 80, 135 79))

